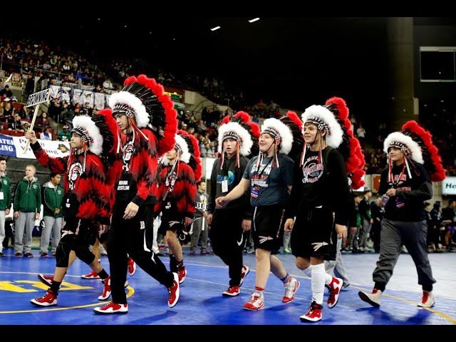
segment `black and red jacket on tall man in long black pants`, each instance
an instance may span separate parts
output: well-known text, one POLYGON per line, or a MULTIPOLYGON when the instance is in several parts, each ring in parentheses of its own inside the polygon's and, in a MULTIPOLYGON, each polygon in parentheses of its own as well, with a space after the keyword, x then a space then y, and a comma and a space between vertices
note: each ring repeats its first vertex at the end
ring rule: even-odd
MULTIPOLYGON (((153 196, 155 177, 157 176, 157 138, 151 130, 141 130, 149 140, 138 137, 135 133, 121 135, 122 150, 120 161, 123 170, 115 185, 116 202, 123 204, 133 202, 141 206, 147 197, 153 196)), ((154 201, 155 203, 155 201, 154 201)))

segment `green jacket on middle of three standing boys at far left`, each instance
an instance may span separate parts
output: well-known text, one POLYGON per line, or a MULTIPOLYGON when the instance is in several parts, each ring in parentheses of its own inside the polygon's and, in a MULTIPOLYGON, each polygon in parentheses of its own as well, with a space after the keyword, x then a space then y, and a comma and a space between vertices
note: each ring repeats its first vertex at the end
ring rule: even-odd
POLYGON ((33 177, 30 182, 24 177, 16 187, 14 194, 15 212, 41 212, 41 186, 33 177))

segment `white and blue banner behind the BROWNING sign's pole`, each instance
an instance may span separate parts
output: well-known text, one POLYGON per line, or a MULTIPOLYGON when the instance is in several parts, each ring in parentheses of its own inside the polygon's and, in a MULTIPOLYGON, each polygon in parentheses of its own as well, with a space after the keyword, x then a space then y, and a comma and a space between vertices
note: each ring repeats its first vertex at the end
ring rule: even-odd
MULTIPOLYGON (((36 159, 31 147, 26 147, 28 139, 24 137, 10 137, 9 135, 0 135, 0 155, 8 155, 9 157, 36 159), (12 145, 10 142, 12 141, 12 145), (13 152, 14 151, 14 152, 13 152)), ((52 158, 61 158, 70 155, 70 144, 66 141, 58 140, 41 140, 38 139, 43 150, 52 158)))

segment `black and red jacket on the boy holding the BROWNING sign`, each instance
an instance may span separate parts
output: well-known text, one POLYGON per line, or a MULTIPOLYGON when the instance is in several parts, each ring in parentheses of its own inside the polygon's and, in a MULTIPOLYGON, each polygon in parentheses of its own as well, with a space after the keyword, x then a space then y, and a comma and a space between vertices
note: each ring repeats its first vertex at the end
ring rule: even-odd
POLYGON ((63 158, 51 158, 39 142, 31 145, 36 160, 51 172, 63 175, 65 195, 63 197, 63 217, 78 217, 110 224, 112 214, 110 185, 105 165, 100 157, 92 152, 63 158), (85 168, 84 168, 85 165, 85 168))

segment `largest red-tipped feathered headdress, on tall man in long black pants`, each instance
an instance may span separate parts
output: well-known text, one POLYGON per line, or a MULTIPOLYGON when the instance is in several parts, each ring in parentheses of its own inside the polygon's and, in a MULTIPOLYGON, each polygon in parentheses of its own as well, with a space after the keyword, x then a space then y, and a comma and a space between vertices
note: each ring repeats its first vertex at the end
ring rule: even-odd
POLYGON ((127 78, 123 89, 110 96, 109 106, 113 108, 113 115, 123 113, 128 116, 134 134, 148 140, 140 128, 152 130, 159 142, 159 156, 174 146, 177 112, 170 97, 165 95, 163 86, 155 79, 145 75, 127 78))

